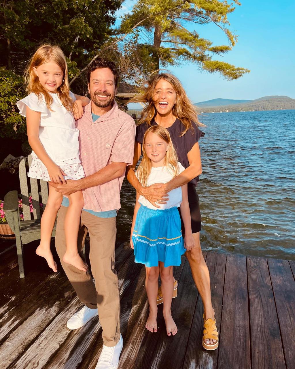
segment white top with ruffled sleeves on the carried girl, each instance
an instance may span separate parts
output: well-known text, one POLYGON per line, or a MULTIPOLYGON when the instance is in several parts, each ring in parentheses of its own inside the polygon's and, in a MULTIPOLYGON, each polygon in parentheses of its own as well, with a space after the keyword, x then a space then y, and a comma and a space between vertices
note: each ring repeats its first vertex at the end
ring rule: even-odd
MULTIPOLYGON (((44 97, 38 99, 35 93, 30 93, 24 99, 17 101, 17 107, 24 117, 26 117, 27 106, 31 110, 41 112, 39 140, 53 162, 59 163, 74 158, 79 162, 79 130, 76 128, 73 114, 66 110, 58 94, 50 94, 53 99, 52 111, 46 106, 44 97)), ((73 101, 76 100, 72 92, 70 97, 73 101)), ((32 155, 37 156, 34 151, 32 155)))

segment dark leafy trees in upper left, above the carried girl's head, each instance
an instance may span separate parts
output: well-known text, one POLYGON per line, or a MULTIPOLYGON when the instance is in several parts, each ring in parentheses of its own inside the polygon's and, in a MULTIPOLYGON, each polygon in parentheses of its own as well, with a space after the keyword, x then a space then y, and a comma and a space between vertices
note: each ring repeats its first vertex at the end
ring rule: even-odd
POLYGON ((65 53, 72 78, 111 37, 120 6, 120 0, 4 0, 0 65, 22 73, 38 45, 50 42, 65 53))

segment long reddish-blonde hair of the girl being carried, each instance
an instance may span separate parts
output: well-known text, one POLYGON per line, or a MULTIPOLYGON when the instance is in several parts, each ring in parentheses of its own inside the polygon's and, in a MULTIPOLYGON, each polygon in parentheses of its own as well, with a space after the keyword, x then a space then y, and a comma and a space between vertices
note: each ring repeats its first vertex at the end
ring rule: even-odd
POLYGON ((26 90, 28 93, 34 92, 39 99, 42 99, 43 95, 47 107, 49 110, 51 110, 51 105, 53 103, 52 96, 41 85, 39 78, 33 69, 34 67, 38 68, 38 66, 50 61, 55 62, 63 72, 63 82, 58 87, 58 97, 63 106, 67 110, 71 111, 73 108, 73 100, 69 94, 70 88, 67 76, 67 62, 65 55, 58 46, 52 46, 49 44, 41 45, 32 56, 30 62, 28 63, 27 69, 25 70, 25 82, 27 85, 26 90))

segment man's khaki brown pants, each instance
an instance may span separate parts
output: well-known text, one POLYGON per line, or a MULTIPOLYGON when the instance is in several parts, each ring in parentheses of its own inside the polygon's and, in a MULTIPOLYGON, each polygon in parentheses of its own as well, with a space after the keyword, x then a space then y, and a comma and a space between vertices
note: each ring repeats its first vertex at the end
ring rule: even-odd
POLYGON ((95 284, 87 273, 62 261, 66 251, 65 215, 67 208, 61 206, 56 226, 55 246, 65 273, 72 283, 80 301, 91 309, 98 309, 103 329, 104 345, 115 346, 120 339, 120 297, 118 277, 115 270, 116 217, 99 218, 82 211, 78 234, 78 251, 82 256, 87 231, 90 236, 90 264, 95 284))

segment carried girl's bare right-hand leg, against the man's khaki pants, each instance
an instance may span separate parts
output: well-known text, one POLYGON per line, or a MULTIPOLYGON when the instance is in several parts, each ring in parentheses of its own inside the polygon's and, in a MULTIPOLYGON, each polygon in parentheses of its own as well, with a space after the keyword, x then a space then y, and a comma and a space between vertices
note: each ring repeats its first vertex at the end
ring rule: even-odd
POLYGON ((81 259, 78 253, 78 232, 81 219, 81 211, 84 205, 82 191, 77 191, 69 195, 70 205, 67 208, 65 217, 65 236, 66 236, 66 253, 63 261, 71 264, 82 272, 86 272, 87 264, 81 259))

